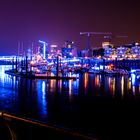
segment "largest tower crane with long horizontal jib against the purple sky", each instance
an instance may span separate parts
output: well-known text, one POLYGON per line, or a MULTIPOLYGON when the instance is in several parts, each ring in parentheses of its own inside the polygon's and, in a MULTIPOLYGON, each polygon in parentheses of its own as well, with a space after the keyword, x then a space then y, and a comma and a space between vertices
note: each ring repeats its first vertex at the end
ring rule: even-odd
POLYGON ((90 50, 90 47, 91 47, 90 36, 91 35, 112 35, 112 33, 110 33, 110 32, 80 32, 80 35, 87 36, 87 48, 86 48, 86 50, 90 50))

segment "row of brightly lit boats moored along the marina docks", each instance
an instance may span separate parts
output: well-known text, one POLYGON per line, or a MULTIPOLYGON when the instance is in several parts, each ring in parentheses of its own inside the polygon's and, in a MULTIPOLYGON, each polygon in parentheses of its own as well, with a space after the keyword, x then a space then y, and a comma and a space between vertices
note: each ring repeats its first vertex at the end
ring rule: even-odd
POLYGON ((38 65, 38 66, 32 67, 31 71, 37 74, 46 74, 48 72, 51 72, 57 75, 59 74, 68 75, 68 73, 82 74, 85 72, 89 74, 101 74, 101 75, 109 75, 109 76, 120 76, 120 75, 131 74, 130 70, 125 69, 125 68, 116 68, 113 64, 108 65, 108 66, 100 65, 100 67, 97 67, 97 65, 91 66, 91 65, 81 65, 81 64, 79 65, 76 65, 76 64, 38 65))

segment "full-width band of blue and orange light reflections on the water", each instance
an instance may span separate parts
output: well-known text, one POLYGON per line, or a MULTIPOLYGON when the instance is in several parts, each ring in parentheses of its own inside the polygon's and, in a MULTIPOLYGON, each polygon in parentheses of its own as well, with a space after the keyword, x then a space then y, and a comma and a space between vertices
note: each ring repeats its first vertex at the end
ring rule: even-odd
POLYGON ((48 96, 65 96, 69 101, 81 95, 104 100, 108 97, 121 97, 121 100, 132 98, 132 95, 139 98, 140 82, 133 74, 113 77, 85 73, 77 80, 30 80, 5 74, 4 71, 10 68, 0 66, 0 109, 30 112, 28 114, 47 118, 48 96))

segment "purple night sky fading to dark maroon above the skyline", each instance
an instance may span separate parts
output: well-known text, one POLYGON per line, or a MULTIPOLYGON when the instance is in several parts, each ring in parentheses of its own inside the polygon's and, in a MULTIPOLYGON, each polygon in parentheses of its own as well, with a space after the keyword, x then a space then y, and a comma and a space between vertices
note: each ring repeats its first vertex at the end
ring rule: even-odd
MULTIPOLYGON (((18 42, 28 48, 39 39, 59 47, 72 40, 83 49, 84 31, 112 32, 116 45, 140 42, 139 7, 135 0, 0 0, 0 55, 17 54, 18 42)), ((105 39, 93 35, 91 41, 95 48, 105 39)))

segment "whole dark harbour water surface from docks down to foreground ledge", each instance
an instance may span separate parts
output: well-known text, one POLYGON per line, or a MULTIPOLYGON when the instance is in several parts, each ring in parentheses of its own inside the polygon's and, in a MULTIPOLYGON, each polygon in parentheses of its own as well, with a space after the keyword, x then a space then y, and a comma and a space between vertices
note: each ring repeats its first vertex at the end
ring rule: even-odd
POLYGON ((1 111, 98 139, 140 139, 140 82, 134 75, 30 80, 4 74, 9 67, 0 66, 1 111))

